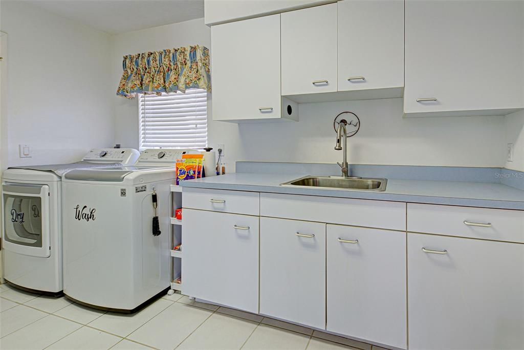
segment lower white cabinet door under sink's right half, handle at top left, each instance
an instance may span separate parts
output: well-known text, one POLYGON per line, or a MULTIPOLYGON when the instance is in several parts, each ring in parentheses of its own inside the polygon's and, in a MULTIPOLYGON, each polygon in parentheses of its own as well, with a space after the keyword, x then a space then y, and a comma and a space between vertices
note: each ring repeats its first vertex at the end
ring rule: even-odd
POLYGON ((328 225, 326 330, 405 349, 406 233, 328 225))

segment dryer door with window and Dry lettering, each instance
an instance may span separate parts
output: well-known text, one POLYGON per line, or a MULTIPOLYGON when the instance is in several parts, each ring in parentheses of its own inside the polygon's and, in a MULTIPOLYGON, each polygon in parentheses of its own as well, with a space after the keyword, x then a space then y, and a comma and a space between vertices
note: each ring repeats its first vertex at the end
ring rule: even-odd
POLYGON ((49 257, 49 186, 3 183, 4 248, 49 257))

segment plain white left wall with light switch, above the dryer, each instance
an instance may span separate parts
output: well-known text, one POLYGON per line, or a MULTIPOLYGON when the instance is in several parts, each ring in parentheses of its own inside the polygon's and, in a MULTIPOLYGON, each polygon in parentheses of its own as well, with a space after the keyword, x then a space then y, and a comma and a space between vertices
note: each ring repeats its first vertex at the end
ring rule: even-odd
POLYGON ((110 36, 23 1, 2 0, 8 34, 7 166, 79 160, 113 145, 110 36), (19 158, 18 145, 32 148, 19 158))

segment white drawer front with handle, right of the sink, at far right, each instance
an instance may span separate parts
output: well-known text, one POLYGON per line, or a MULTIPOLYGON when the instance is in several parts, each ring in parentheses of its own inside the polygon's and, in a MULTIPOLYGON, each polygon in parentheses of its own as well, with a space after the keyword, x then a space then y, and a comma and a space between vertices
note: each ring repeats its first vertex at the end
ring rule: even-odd
POLYGON ((524 211, 408 203, 408 231, 524 243, 524 211))

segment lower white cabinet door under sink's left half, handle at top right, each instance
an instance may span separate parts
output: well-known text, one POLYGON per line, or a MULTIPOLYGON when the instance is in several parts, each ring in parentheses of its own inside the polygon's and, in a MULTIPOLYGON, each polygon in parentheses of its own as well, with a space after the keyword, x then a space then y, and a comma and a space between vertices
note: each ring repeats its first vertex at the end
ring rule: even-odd
POLYGON ((260 218, 260 313, 325 327, 323 223, 260 218))

